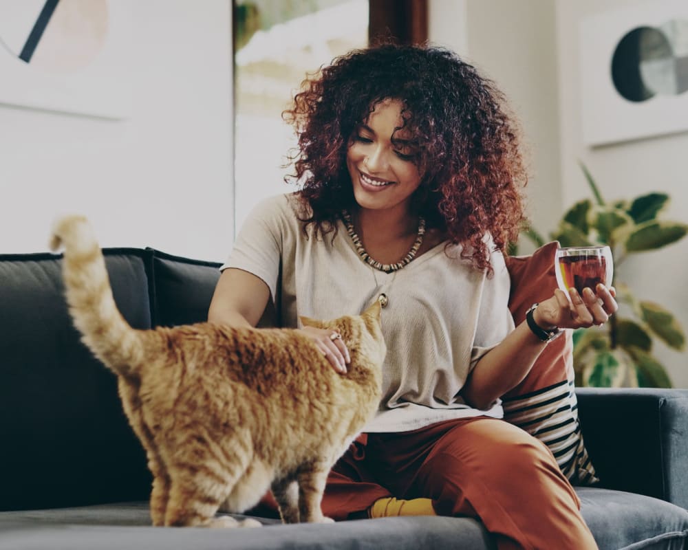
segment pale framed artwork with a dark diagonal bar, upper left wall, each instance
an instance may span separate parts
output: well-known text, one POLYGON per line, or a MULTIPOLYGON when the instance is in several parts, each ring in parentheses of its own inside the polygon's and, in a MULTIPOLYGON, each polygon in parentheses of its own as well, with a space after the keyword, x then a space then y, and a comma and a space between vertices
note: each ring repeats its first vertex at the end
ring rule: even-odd
POLYGON ((126 118, 128 6, 128 0, 0 1, 0 104, 126 118))

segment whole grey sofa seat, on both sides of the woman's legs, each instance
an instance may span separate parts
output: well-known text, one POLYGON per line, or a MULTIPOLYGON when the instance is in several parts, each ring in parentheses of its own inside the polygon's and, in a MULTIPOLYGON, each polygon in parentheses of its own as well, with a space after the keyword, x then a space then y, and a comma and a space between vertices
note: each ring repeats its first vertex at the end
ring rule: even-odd
MULTIPOLYGON (((688 511, 649 496, 577 487, 585 521, 600 550, 680 550, 688 540, 688 511)), ((241 518, 244 516, 235 516, 241 518)), ((480 522, 469 518, 382 518, 334 525, 237 529, 148 527, 147 503, 0 513, 0 550, 31 549, 495 549, 480 522)))

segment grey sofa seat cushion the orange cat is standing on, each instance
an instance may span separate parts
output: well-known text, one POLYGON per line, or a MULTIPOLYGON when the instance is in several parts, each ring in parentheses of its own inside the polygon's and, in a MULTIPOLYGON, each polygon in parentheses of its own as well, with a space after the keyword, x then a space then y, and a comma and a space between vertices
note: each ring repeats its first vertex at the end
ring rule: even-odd
POLYGON ((144 503, 4 512, 0 513, 0 550, 495 549, 480 523, 468 518, 381 518, 229 531, 144 525, 150 525, 144 503))

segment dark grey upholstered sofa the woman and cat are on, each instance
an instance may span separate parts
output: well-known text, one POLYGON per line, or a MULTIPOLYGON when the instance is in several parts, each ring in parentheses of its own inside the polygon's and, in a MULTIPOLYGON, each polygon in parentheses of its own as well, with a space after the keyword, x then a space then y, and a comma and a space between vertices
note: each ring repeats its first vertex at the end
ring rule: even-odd
MULTIPOLYGON (((151 249, 105 254, 116 301, 133 326, 206 318, 217 264, 151 249)), ((53 254, 0 255, 0 550, 495 548, 468 518, 149 527, 142 448, 114 375, 78 342, 60 262, 53 254)), ((688 548, 688 391, 585 388, 577 395, 602 480, 577 492, 599 547, 688 548)))

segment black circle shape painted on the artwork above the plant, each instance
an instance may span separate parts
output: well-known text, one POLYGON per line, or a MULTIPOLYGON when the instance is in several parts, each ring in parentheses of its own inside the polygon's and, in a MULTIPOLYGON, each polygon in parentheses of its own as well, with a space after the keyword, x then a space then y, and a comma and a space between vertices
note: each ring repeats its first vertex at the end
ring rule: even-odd
POLYGON ((652 98, 654 91, 643 81, 641 63, 670 57, 671 45, 660 30, 638 27, 627 32, 612 56, 612 81, 616 91, 629 101, 652 98))

